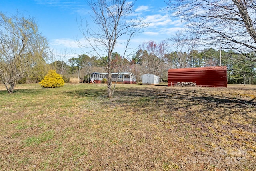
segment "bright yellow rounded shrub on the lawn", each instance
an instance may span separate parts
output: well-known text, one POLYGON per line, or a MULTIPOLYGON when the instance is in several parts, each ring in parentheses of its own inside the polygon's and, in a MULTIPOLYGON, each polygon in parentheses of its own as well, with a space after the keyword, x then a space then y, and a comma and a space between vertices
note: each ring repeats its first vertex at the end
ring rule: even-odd
POLYGON ((60 74, 56 73, 56 70, 50 70, 39 84, 42 88, 63 87, 64 80, 60 74))

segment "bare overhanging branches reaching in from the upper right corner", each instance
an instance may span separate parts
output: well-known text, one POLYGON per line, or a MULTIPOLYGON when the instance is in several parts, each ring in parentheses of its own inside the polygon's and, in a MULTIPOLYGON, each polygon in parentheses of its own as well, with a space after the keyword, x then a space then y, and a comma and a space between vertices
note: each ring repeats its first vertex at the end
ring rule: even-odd
MULTIPOLYGON (((203 46, 220 45, 256 52, 256 0, 169 0, 167 9, 182 18, 203 46)), ((255 56, 247 56, 256 60, 255 56)))

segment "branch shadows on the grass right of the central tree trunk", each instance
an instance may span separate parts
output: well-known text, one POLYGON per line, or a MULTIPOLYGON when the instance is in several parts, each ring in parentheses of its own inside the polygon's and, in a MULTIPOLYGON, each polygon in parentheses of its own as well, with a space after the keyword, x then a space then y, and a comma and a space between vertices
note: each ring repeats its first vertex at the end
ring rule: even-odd
POLYGON ((255 101, 208 95, 197 89, 117 89, 114 98, 116 97, 122 97, 118 98, 116 103, 130 103, 134 109, 145 110, 146 108, 149 113, 164 111, 166 115, 172 115, 179 111, 183 113, 182 117, 196 122, 213 122, 215 119, 224 119, 238 114, 256 125, 256 116, 252 115, 256 113, 255 101), (133 97, 137 98, 134 100, 133 97), (190 111, 198 105, 201 106, 199 109, 190 111), (200 117, 194 118, 195 115, 200 117))

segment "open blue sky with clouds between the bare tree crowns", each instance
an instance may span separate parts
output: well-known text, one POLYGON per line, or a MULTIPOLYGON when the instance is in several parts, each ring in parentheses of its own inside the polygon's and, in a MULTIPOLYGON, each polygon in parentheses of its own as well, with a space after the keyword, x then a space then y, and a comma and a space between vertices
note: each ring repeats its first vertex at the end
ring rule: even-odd
MULTIPOLYGON (((76 39, 82 39, 76 20, 89 18, 90 9, 85 0, 3 0, 0 11, 7 16, 18 12, 31 16, 38 22, 39 31, 48 39, 50 48, 59 53, 67 50, 68 58, 84 54, 76 45, 76 39), (76 52, 76 53, 74 53, 76 52)), ((170 38, 183 28, 180 20, 171 18, 165 10, 164 0, 137 0, 135 13, 142 16, 150 25, 140 36, 134 37, 130 48, 154 40, 160 42, 170 38)), ((170 42, 171 44, 171 42, 170 42)))

